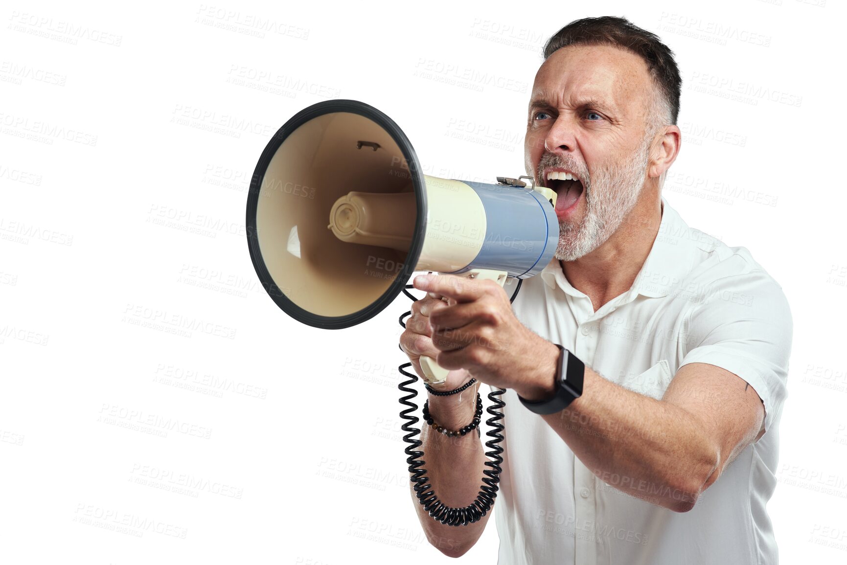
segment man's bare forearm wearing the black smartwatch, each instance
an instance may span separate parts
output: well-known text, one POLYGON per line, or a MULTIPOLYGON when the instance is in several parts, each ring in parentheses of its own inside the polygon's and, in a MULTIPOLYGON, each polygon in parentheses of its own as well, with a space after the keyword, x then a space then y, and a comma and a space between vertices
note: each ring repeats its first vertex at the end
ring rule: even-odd
MULTIPOLYGON (((555 346, 545 352, 550 374, 555 374, 557 355, 555 346)), ((528 384, 527 396, 518 394, 528 400, 549 396, 550 380, 549 385, 528 384)), ((672 510, 693 507, 717 464, 702 426, 684 409, 629 391, 588 366, 582 396, 542 418, 601 480, 672 510)))

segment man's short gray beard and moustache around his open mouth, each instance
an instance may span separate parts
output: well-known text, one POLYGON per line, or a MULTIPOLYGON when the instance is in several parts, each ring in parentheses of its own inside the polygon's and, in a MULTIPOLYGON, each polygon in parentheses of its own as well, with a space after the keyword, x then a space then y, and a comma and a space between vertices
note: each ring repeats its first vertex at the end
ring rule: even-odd
MULTIPOLYGON (((582 179, 587 204, 584 218, 579 224, 559 222, 559 245, 556 259, 573 261, 594 251, 615 233, 623 219, 638 202, 647 173, 647 153, 651 136, 645 140, 626 161, 600 168, 591 178, 587 170, 578 171, 582 179)), ((562 166, 553 156, 542 158, 539 169, 562 166), (545 159, 546 158, 546 159, 545 159)))

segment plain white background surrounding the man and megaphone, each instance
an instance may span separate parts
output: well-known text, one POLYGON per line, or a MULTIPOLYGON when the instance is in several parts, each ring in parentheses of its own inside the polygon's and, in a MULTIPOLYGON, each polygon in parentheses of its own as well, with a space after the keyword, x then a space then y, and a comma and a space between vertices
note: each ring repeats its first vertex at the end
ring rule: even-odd
MULTIPOLYGON (((663 195, 789 297, 782 561, 847 560, 844 9, 823 3, 3 3, 0 561, 448 562, 408 492, 407 298, 348 330, 288 319, 247 252, 248 180, 335 97, 388 114, 428 174, 523 174, 542 45, 603 14, 677 55, 663 195)), ((492 520, 463 562, 497 544, 492 520)))

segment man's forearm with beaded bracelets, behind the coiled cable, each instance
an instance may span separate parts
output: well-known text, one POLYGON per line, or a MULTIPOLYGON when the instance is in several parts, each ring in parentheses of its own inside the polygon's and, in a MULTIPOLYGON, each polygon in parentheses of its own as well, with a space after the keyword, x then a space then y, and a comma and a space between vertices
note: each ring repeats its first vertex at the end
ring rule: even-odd
MULTIPOLYGON (((460 429, 468 425, 476 407, 477 387, 479 385, 464 391, 462 402, 458 402, 457 395, 429 396, 430 415, 446 429, 460 429), (471 392, 473 394, 468 394, 471 392)), ((484 463, 488 460, 476 430, 466 435, 447 437, 424 422, 421 425, 421 441, 420 449, 424 451, 421 459, 426 462, 426 476, 435 496, 449 507, 470 505, 479 494, 486 468, 484 463)), ((459 557, 468 551, 479 540, 490 517, 489 512, 479 522, 467 526, 446 526, 429 516, 413 489, 411 494, 429 543, 450 557, 459 557)))

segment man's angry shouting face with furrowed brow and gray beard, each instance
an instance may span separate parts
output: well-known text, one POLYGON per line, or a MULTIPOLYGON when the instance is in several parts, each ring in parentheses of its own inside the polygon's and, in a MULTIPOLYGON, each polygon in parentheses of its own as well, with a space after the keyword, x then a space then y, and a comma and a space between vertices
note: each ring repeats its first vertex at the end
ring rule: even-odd
POLYGON ((610 46, 563 47, 535 75, 525 161, 536 183, 556 191, 556 259, 594 251, 637 202, 652 88, 645 62, 610 46))

